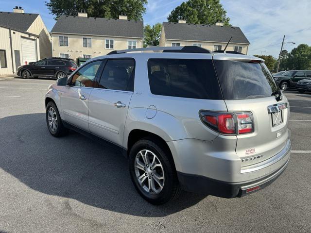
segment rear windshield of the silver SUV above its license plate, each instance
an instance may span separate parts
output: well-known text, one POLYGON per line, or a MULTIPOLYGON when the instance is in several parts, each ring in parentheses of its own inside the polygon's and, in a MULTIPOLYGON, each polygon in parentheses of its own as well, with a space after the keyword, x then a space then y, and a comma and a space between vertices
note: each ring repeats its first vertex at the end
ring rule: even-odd
POLYGON ((225 100, 269 97, 279 88, 264 63, 214 60, 225 100))

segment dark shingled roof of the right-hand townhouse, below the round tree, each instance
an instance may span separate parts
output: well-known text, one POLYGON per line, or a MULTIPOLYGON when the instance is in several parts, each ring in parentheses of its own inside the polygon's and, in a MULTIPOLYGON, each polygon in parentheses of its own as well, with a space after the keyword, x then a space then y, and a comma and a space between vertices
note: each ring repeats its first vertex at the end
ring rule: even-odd
POLYGON ((227 42, 250 44, 239 27, 191 23, 163 22, 165 38, 169 40, 227 42))

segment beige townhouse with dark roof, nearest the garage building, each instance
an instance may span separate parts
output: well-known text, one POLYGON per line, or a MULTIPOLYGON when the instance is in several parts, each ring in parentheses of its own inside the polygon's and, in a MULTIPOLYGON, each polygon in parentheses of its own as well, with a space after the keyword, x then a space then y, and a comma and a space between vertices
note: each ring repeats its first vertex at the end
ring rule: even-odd
POLYGON ((112 50, 143 47, 143 21, 128 20, 126 16, 60 16, 51 33, 53 57, 94 58, 112 50))

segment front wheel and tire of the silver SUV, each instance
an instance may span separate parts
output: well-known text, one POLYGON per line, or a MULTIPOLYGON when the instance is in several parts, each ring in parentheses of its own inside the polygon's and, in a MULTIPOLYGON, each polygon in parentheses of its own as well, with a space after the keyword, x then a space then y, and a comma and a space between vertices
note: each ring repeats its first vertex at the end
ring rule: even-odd
POLYGON ((68 129, 63 125, 62 119, 60 118, 58 109, 54 102, 50 101, 47 104, 45 116, 49 132, 54 137, 61 137, 68 132, 68 129))

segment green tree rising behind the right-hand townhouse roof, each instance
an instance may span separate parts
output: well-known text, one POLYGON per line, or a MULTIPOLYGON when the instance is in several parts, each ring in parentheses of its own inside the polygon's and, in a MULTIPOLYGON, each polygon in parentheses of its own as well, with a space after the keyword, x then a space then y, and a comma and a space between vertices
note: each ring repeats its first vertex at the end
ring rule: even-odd
POLYGON ((219 0, 188 0, 177 6, 167 18, 169 22, 178 22, 179 19, 187 23, 215 24, 223 22, 228 26, 230 18, 219 0))

